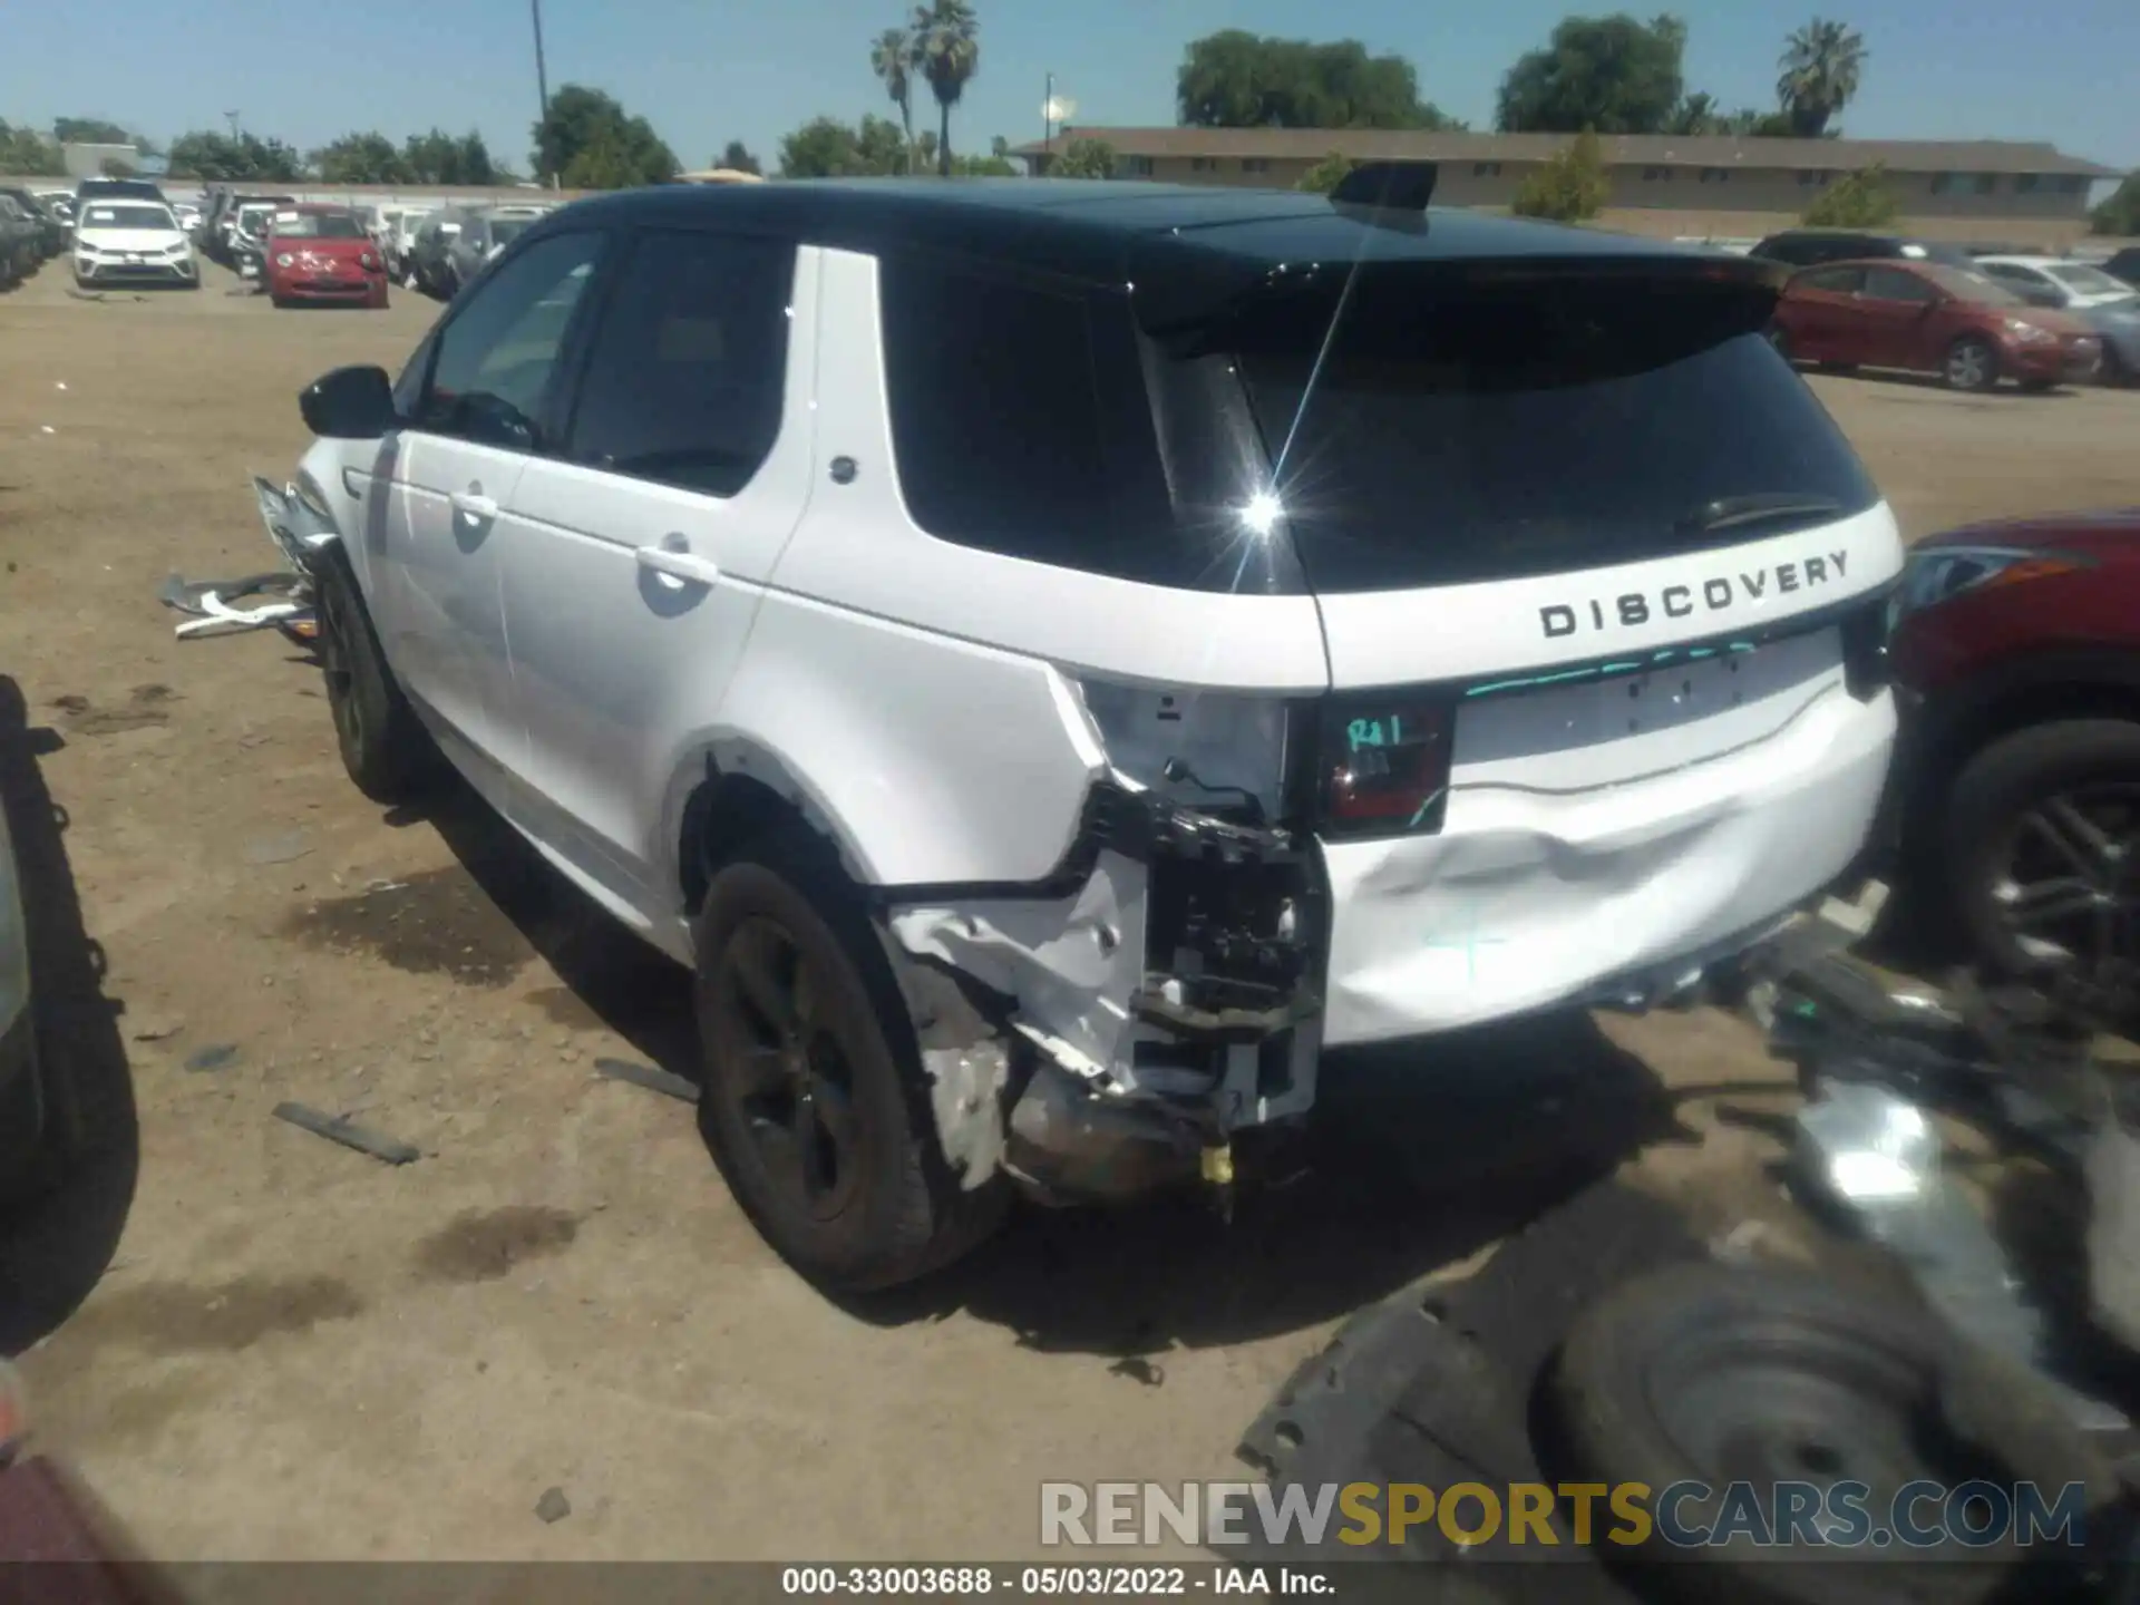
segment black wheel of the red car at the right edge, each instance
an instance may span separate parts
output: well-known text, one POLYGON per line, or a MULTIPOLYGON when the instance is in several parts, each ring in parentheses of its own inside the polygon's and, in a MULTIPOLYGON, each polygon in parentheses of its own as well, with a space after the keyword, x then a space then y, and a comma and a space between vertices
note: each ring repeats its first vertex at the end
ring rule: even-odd
POLYGON ((2063 972, 2140 1010, 2140 723, 2061 719, 1994 740, 1954 781, 1943 845, 1975 957, 2063 972))

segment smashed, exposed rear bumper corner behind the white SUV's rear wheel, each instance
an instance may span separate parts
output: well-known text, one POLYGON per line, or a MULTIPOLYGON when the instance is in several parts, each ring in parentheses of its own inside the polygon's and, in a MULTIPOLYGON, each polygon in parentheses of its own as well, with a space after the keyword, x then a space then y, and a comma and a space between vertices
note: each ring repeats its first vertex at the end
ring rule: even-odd
POLYGON ((972 1181, 993 1151, 1057 1203, 1228 1183, 1235 1130, 1314 1102, 1314 843, 1102 781, 1055 882, 884 912, 897 954, 978 993, 974 1040, 924 1036, 946 1153, 972 1181), (976 1053, 999 1068, 976 1072, 976 1053))

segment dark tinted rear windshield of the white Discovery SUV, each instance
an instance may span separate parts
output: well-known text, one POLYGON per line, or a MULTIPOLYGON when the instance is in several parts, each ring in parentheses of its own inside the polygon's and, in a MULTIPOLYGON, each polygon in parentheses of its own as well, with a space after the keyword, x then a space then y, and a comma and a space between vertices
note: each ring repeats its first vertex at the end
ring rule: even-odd
POLYGON ((1385 285, 1239 368, 1316 591, 1605 567, 1877 503, 1744 289, 1385 285), (1325 332, 1327 351, 1325 351, 1325 332), (1770 507, 1757 518, 1718 509, 1770 507))

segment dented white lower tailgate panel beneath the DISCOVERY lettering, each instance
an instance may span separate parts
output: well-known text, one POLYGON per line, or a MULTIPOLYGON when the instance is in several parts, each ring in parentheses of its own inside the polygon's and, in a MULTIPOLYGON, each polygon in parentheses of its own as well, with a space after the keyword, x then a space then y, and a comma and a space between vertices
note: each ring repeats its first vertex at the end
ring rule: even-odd
MULTIPOLYGON (((1652 749, 1671 747, 1669 730, 1564 751, 1526 785, 1513 751, 1466 764, 1459 723, 1440 835, 1325 843, 1325 1042, 1421 1036, 1571 1002, 1710 950, 1819 892, 1872 826, 1894 698, 1860 702, 1840 674, 1806 689, 1806 706, 1772 698, 1791 717, 1768 738, 1755 732, 1770 713, 1733 708, 1727 719, 1751 721, 1744 743, 1648 775, 1652 749), (1552 783, 1584 766, 1590 788, 1552 783), (1616 768, 1629 777, 1609 779, 1616 768)), ((1494 725, 1472 753, 1522 747, 1513 725, 1494 725)))

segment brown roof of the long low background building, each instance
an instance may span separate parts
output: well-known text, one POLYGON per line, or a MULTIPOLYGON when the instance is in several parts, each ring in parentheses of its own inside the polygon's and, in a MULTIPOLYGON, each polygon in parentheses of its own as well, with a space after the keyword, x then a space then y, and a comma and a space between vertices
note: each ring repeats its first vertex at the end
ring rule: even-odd
MULTIPOLYGON (((1014 156, 1064 152, 1102 139, 1117 156, 1263 156, 1318 160, 1331 152, 1361 160, 1545 160, 1573 135, 1430 133, 1421 128, 1117 128, 1066 126, 1014 156)), ((2121 178, 2121 169, 2022 139, 1757 139, 1738 135, 1601 135, 1614 167, 1738 167, 1847 171, 1881 163, 1898 173, 2067 173, 2121 178)))

